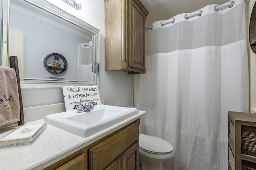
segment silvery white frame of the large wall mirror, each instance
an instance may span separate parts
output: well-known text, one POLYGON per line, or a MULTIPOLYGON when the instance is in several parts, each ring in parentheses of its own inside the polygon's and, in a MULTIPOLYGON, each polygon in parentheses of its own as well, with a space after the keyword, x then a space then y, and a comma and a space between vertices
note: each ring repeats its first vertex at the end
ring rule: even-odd
MULTIPOLYGON (((7 0, 8 4, 10 4, 10 0, 7 0)), ((93 27, 92 25, 76 18, 75 16, 65 12, 61 8, 54 6, 50 2, 46 0, 24 0, 25 2, 28 2, 37 8, 40 8, 54 16, 57 16, 58 18, 61 18, 62 20, 66 20, 69 23, 72 23, 82 29, 86 29, 90 33, 94 34, 94 62, 93 68, 94 68, 94 81, 70 81, 70 80, 45 80, 40 78, 22 78, 21 79, 21 88, 61 88, 63 86, 81 86, 81 85, 94 85, 97 84, 99 86, 99 64, 100 64, 100 30, 93 27)), ((8 10, 10 8, 10 5, 8 7, 8 10)), ((8 14, 9 16, 9 14, 8 14)), ((8 23, 9 24, 9 23, 8 23)), ((2 26, 1 26, 2 27, 2 26)), ((9 28, 9 25, 8 25, 9 28)), ((1 30, 2 33, 2 30, 1 30)), ((7 49, 8 49, 8 42, 7 42, 7 49)), ((1 48, 2 53, 2 48, 1 48)), ((8 52, 7 52, 8 53, 8 52)), ((8 55, 7 55, 8 56, 8 55)), ((7 56, 7 61, 9 60, 7 56)), ((2 58, 1 58, 2 60, 2 58)), ((7 62, 8 63, 8 62, 7 62)), ((3 63, 2 63, 3 64, 3 63)), ((1 64, 1 65, 2 65, 1 64)), ((9 64, 7 64, 9 65, 9 64)))

